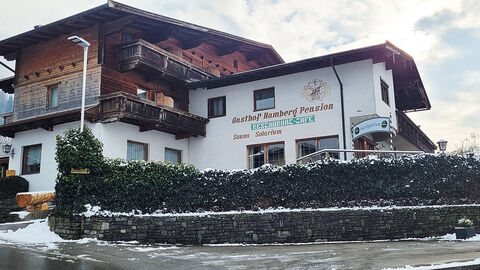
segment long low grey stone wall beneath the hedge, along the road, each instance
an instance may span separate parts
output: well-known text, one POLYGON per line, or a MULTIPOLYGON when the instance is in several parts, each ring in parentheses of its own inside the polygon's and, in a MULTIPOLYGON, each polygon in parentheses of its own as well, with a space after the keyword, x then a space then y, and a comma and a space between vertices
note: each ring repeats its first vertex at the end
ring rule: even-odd
POLYGON ((400 207, 171 216, 50 216, 66 239, 170 243, 294 243, 421 238, 453 233, 458 219, 480 228, 480 206, 400 207))

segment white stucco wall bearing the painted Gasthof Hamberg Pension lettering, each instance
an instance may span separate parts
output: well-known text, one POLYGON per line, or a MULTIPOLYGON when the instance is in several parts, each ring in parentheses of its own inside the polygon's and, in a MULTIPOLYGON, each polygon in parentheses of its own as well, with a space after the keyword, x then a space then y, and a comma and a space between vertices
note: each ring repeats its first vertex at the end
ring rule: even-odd
MULTIPOLYGON (((377 82, 373 79, 376 75, 374 75, 371 60, 339 65, 336 69, 344 86, 346 148, 351 149, 351 117, 375 114, 388 116, 389 114, 385 115, 383 111, 377 110, 375 93, 377 82)), ((378 83, 380 83, 379 79, 378 83)), ((221 88, 190 91, 190 112, 207 117, 208 99, 220 96, 226 96, 226 116, 210 119, 206 137, 190 139, 189 160, 198 168, 247 168, 247 146, 252 144, 284 142, 287 164, 296 162, 296 140, 298 139, 336 135, 339 138, 340 148, 343 148, 340 85, 331 67, 221 88), (309 101, 302 96, 304 86, 313 79, 321 79, 330 87, 330 95, 321 101, 309 101), (269 87, 275 88, 275 108, 255 112, 253 91, 269 87), (292 116, 286 116, 265 119, 263 116, 265 112, 296 108, 300 111, 301 107, 318 106, 322 103, 333 104, 333 110, 297 114, 297 117, 314 115, 314 123, 274 128, 281 130, 281 135, 258 137, 257 131, 271 129, 251 130, 252 123, 292 118, 292 116), (234 117, 255 116, 258 113, 261 113, 261 119, 258 121, 232 123, 234 117), (242 134, 248 134, 249 138, 234 139, 234 135, 242 134)))

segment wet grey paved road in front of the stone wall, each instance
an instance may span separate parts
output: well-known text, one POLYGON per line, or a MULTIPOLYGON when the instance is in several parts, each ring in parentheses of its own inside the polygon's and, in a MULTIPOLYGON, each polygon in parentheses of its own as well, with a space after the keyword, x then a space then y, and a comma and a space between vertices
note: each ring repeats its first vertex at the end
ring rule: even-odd
POLYGON ((0 269, 382 269, 480 258, 480 242, 282 246, 0 244, 0 269))

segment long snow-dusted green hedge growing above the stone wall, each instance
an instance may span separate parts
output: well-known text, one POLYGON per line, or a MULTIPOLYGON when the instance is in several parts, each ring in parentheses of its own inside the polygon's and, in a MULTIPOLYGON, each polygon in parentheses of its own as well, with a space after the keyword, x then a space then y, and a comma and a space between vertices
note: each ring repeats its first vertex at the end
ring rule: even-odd
POLYGON ((474 157, 420 155, 199 171, 185 164, 104 158, 101 143, 86 129, 57 138, 57 162, 56 211, 62 214, 83 212, 86 204, 152 213, 480 202, 480 162, 474 157), (88 168, 90 174, 72 175, 72 168, 88 168))

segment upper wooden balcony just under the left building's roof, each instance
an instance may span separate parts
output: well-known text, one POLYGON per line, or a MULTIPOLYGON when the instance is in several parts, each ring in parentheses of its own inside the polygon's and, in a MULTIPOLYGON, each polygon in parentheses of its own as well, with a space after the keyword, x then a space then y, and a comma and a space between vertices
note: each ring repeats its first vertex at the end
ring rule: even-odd
POLYGON ((120 72, 133 69, 185 83, 212 77, 191 63, 142 39, 120 45, 120 72))

